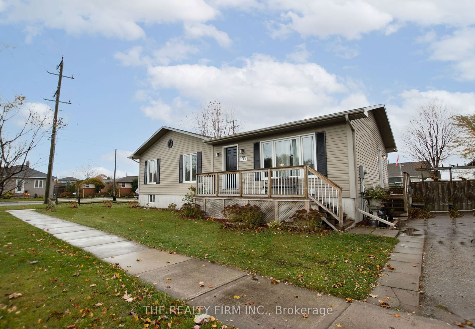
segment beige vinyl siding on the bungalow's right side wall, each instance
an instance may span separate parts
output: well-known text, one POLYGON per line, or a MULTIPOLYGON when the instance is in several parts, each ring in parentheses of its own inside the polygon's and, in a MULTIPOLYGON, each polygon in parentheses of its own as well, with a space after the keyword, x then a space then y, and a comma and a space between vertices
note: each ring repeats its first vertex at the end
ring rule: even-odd
MULTIPOLYGON (((380 186, 380 167, 378 148, 382 155, 386 155, 386 146, 381 138, 380 130, 376 124, 376 120, 371 111, 368 112, 367 118, 352 121, 355 129, 356 139, 356 167, 357 179, 360 181, 360 165, 364 165, 368 170, 368 174, 364 179, 365 186, 380 186)), ((384 187, 389 187, 388 165, 386 160, 382 160, 382 171, 384 187)))

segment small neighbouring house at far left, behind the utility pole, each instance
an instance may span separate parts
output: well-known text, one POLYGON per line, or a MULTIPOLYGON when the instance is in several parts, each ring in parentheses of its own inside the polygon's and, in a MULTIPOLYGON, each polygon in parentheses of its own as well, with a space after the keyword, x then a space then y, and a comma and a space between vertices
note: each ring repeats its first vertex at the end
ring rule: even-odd
MULTIPOLYGON (((12 177, 9 182, 7 182, 6 191, 11 189, 15 197, 20 197, 27 193, 30 194, 30 196, 44 196, 46 189, 46 177, 47 174, 30 168, 29 161, 27 161, 24 166, 24 170, 19 174, 14 175, 14 177, 12 177)), ((50 197, 53 196, 55 179, 56 177, 51 178, 50 197)))

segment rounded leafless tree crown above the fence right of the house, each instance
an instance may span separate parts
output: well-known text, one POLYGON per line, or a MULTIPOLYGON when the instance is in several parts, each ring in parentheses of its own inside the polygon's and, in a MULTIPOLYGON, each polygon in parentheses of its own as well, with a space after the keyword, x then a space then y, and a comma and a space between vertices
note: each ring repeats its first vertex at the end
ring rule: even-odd
POLYGON ((404 132, 407 155, 428 167, 438 167, 453 155, 458 130, 453 115, 454 109, 442 102, 430 101, 420 106, 404 132))

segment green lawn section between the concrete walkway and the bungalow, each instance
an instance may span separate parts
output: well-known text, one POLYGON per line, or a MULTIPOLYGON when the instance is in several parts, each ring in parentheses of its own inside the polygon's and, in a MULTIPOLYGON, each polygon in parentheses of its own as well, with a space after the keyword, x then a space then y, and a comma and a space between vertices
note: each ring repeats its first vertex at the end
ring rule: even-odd
POLYGON ((58 207, 48 213, 169 252, 274 277, 324 294, 365 299, 397 243, 395 238, 274 229, 225 230, 221 223, 114 204, 58 207))

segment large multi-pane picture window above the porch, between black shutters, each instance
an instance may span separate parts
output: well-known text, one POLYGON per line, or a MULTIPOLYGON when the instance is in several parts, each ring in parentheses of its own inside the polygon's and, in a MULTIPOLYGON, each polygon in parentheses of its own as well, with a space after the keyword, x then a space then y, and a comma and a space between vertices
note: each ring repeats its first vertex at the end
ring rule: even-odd
POLYGON ((263 168, 310 165, 315 167, 315 135, 262 142, 263 168))

